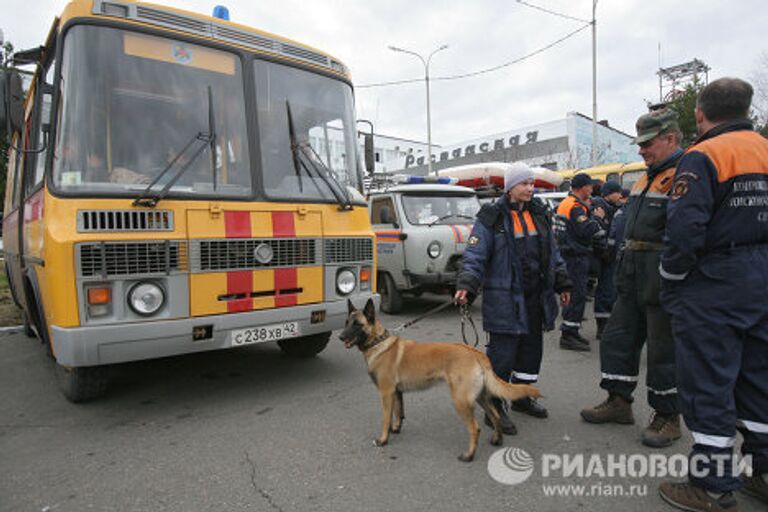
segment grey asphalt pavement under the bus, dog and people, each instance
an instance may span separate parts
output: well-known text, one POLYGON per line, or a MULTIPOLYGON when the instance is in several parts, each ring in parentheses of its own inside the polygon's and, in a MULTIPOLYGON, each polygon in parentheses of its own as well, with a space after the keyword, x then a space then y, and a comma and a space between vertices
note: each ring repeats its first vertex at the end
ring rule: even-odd
MULTIPOLYGON (((409 300, 406 314, 382 320, 400 325, 439 300, 409 300)), ((461 339, 453 311, 404 334, 461 339)), ((551 465, 564 454, 606 463, 687 453, 687 433, 666 450, 640 445, 644 392, 635 405, 637 425, 583 423, 579 410, 603 399, 598 378, 596 350, 562 351, 556 333, 546 336, 540 387, 550 417, 514 414, 519 434, 505 437, 505 447, 524 450, 535 467, 523 483, 505 485, 489 476, 498 448, 488 443, 488 428, 475 462, 457 460, 466 431, 445 387, 407 394, 403 432, 374 447, 376 390, 359 352, 335 337, 307 361, 260 345, 121 365, 106 398, 72 405, 59 394, 52 362, 36 340, 4 334, 0 511, 672 510, 657 494, 662 478, 642 476, 642 465, 635 476, 603 478, 594 466, 581 477, 543 476, 545 457, 551 465), (581 491, 563 490, 569 484, 581 491)), ((750 497, 739 500, 742 511, 765 510, 750 497)))

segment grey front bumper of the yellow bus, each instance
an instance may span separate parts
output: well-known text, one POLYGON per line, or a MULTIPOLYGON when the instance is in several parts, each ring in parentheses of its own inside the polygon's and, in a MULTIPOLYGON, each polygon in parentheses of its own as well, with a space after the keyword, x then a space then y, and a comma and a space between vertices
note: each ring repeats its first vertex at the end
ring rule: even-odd
MULTIPOLYGON (((370 298, 378 309, 378 294, 351 297, 358 309, 370 298)), ((299 332, 305 336, 340 329, 346 319, 347 301, 340 300, 179 320, 71 328, 52 326, 51 335, 53 352, 60 365, 97 366, 232 348, 232 332, 240 329, 296 322, 299 332), (317 321, 320 311, 325 312, 324 320, 317 321)))

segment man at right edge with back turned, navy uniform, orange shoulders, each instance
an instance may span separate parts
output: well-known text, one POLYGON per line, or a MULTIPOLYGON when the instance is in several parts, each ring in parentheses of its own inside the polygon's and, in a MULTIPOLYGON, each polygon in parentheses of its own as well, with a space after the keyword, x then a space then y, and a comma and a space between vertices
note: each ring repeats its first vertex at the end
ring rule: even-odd
POLYGON ((768 502, 768 140, 752 129, 751 100, 740 79, 702 89, 700 137, 677 167, 667 210, 662 302, 694 445, 688 482, 659 491, 684 510, 737 510, 737 428, 752 459, 744 491, 768 502))

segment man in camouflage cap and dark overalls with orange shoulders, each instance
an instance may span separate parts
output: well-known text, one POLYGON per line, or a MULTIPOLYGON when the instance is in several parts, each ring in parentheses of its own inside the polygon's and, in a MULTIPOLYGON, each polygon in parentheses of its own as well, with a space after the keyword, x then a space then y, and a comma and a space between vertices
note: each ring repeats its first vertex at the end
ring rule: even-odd
POLYGON ((642 442, 654 448, 681 437, 675 384, 675 345, 659 302, 659 258, 675 165, 683 154, 674 112, 657 110, 637 120, 637 137, 648 169, 635 182, 625 208, 623 255, 616 273, 618 299, 600 340, 600 387, 608 398, 581 411, 589 423, 632 424, 632 394, 643 345, 648 353, 646 388, 653 417, 642 442))

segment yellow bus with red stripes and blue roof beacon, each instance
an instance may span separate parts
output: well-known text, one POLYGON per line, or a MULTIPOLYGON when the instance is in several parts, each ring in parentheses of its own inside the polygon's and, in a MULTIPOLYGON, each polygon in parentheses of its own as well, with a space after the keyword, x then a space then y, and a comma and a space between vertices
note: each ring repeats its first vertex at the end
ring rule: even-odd
POLYGON ((72 1, 16 62, 35 73, 26 98, 0 77, 5 270, 69 400, 126 361, 313 356, 348 298, 378 304, 341 62, 130 0, 72 1))

